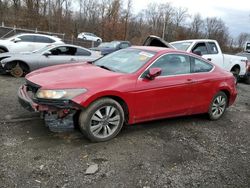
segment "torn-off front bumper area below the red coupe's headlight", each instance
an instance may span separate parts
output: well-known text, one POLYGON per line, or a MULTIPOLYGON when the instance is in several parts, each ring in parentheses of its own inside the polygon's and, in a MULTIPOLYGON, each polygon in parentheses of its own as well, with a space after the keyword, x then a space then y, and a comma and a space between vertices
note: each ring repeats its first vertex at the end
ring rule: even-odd
POLYGON ((63 132, 74 128, 74 116, 80 106, 70 100, 37 99, 27 85, 18 89, 18 101, 29 111, 40 112, 45 124, 53 132, 63 132))

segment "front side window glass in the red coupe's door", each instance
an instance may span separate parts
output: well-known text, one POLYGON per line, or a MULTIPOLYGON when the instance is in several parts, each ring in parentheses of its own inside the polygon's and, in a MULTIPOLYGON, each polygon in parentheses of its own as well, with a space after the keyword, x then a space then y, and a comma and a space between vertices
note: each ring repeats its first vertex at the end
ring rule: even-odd
POLYGON ((162 69, 161 76, 189 74, 190 71, 190 58, 181 54, 168 54, 160 57, 151 66, 159 67, 162 69))

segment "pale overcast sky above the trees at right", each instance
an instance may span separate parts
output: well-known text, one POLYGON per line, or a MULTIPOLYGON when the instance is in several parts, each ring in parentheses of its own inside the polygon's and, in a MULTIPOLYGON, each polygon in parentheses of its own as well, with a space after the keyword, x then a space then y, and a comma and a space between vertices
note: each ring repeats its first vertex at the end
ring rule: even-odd
POLYGON ((189 14, 200 13, 203 18, 221 18, 230 34, 237 37, 241 32, 250 33, 250 2, 248 0, 132 0, 133 10, 138 13, 151 2, 170 2, 174 7, 186 7, 189 14))

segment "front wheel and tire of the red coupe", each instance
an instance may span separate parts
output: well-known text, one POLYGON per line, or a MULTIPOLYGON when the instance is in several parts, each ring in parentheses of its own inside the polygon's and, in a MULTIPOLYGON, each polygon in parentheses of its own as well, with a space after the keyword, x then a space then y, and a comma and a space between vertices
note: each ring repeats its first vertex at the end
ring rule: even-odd
POLYGON ((124 124, 124 110, 117 101, 102 98, 80 113, 79 124, 91 141, 107 141, 120 132, 124 124))

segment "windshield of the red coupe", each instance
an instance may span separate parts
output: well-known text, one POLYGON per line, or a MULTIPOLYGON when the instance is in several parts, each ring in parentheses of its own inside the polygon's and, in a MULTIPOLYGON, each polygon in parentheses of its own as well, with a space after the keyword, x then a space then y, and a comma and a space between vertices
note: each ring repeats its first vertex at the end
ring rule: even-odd
POLYGON ((145 65, 155 52, 140 49, 123 49, 113 52, 94 62, 96 66, 122 73, 133 73, 145 65))

